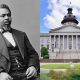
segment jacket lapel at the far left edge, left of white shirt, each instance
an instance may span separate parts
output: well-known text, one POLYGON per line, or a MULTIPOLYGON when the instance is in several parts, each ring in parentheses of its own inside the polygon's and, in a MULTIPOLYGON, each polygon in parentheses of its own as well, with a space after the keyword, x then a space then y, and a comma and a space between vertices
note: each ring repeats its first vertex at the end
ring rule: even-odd
POLYGON ((8 60, 10 60, 9 58, 9 52, 6 46, 6 43, 4 41, 3 35, 0 33, 0 53, 7 58, 8 60))

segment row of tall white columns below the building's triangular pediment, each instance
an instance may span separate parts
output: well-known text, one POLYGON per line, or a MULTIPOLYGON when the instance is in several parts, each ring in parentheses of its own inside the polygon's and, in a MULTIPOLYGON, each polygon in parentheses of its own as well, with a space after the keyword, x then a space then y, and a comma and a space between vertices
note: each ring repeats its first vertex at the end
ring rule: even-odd
POLYGON ((80 35, 50 35, 51 36, 51 49, 60 50, 78 50, 80 49, 80 35), (54 45, 54 46, 53 46, 54 45))

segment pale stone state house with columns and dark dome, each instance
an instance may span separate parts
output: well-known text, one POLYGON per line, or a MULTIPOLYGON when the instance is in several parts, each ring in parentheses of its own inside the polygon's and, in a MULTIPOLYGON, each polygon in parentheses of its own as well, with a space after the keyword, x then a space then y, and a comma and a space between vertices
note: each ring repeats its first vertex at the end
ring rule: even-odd
POLYGON ((77 26, 72 8, 67 10, 61 27, 40 33, 40 49, 43 46, 48 48, 49 59, 80 59, 80 26, 77 26))

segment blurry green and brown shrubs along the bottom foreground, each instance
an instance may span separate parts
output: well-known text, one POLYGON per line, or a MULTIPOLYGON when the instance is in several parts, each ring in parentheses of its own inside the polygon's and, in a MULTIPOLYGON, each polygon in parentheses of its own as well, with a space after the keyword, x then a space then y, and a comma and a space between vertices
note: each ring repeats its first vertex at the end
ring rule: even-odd
POLYGON ((48 74, 40 74, 40 80, 80 80, 80 70, 67 70, 66 72, 50 70, 48 74))

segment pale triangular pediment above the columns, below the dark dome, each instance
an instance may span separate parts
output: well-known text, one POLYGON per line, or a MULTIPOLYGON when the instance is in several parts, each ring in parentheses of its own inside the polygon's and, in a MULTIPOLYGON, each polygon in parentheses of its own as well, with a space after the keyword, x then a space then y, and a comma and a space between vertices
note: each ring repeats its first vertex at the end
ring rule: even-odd
POLYGON ((78 26, 59 27, 51 30, 50 32, 80 32, 80 27, 78 26))

